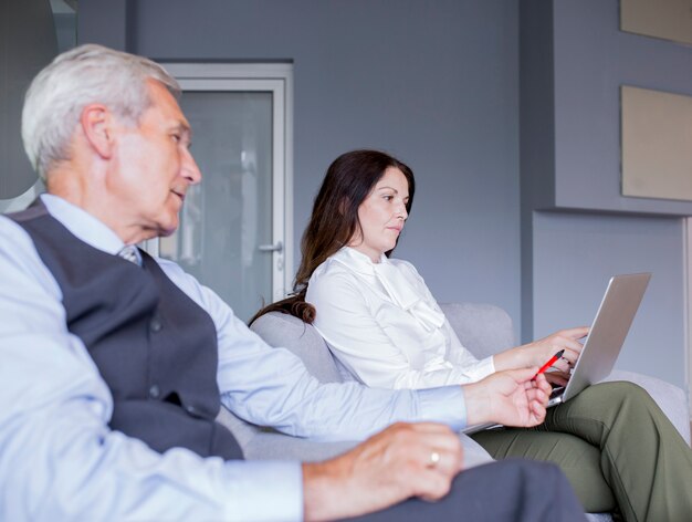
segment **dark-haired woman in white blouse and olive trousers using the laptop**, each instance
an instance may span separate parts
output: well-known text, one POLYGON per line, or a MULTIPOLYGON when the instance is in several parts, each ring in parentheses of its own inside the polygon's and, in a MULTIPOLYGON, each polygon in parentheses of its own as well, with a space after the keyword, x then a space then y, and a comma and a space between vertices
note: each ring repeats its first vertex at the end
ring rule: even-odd
MULTIPOLYGON (((557 332, 483 361, 469 353, 412 264, 389 259, 411 211, 411 169, 376 150, 339 156, 327 169, 303 236, 294 294, 260 311, 312 323, 345 377, 385 388, 474 383, 538 366, 558 349, 564 384, 588 328, 557 332)), ((692 450, 651 397, 631 383, 590 386, 548 410, 535 429, 472 436, 494 458, 560 466, 589 512, 619 507, 626 520, 689 520, 692 450), (636 435, 636 437, 633 437, 636 435)))

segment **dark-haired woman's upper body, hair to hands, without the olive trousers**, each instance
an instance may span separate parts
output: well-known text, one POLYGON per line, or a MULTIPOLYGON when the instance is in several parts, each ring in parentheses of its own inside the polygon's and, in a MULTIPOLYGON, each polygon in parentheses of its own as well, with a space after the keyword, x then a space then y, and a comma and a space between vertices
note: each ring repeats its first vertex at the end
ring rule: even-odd
POLYGON ((539 366, 557 349, 565 349, 558 367, 568 369, 581 349, 576 340, 587 328, 563 331, 482 362, 461 345, 413 265, 388 259, 415 191, 412 170, 385 153, 339 156, 315 198, 293 295, 252 321, 281 311, 314 324, 349 370, 345 376, 373 387, 476 382, 501 369, 539 366), (365 302, 368 305, 360 306, 365 302), (418 321, 410 321, 411 315, 418 321))

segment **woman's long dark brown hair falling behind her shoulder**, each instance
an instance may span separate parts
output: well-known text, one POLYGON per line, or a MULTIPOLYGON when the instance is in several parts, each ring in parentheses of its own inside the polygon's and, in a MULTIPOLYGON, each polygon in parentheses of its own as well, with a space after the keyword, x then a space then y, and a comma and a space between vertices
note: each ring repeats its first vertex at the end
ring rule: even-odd
MULTIPOLYGON (((260 310, 250 324, 269 312, 295 315, 308 324, 314 321, 315 307, 305 302, 307 282, 319 264, 348 244, 355 232, 363 232, 358 207, 390 167, 401 170, 408 181, 406 210, 410 213, 416 180, 413 171, 403 163, 378 150, 352 150, 342 154, 329 165, 301 241, 302 260, 293 293, 260 310)), ((389 257, 392 251, 389 250, 386 255, 389 257)))

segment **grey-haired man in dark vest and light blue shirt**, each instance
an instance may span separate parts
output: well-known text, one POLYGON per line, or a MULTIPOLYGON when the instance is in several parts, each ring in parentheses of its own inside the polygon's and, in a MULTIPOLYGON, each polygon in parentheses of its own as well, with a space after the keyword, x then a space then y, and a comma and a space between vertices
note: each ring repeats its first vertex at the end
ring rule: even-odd
POLYGON ((581 520, 551 464, 461 470, 454 430, 543 420, 535 368, 420 392, 319 384, 135 247, 172 233, 201 180, 178 94, 160 65, 98 45, 29 88, 22 135, 48 194, 0 217, 0 520, 581 520), (221 406, 367 440, 325 462, 244 461, 221 406))

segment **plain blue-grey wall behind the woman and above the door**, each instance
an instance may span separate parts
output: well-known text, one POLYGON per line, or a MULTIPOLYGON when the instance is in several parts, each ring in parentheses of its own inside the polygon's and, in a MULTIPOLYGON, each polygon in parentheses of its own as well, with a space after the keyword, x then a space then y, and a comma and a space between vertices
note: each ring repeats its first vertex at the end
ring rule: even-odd
POLYGON ((518 322, 515 2, 124 6, 85 2, 82 42, 164 60, 293 60, 296 244, 328 164, 356 147, 389 150, 418 180, 397 254, 441 301, 496 303, 518 322))

